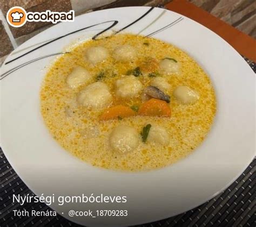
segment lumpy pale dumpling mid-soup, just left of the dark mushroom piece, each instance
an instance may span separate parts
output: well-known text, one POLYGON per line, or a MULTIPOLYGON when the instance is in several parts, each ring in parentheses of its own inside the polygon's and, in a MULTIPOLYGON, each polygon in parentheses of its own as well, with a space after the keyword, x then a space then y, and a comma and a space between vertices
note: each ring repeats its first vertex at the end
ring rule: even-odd
POLYGON ((142 83, 135 76, 125 76, 114 84, 116 95, 121 98, 131 98, 137 96, 142 90, 142 83))

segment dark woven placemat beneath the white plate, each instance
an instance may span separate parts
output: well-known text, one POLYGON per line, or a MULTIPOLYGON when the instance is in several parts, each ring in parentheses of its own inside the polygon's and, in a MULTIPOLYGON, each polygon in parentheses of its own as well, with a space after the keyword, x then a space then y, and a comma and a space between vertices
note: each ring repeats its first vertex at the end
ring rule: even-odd
MULTIPOLYGON (((246 59, 256 73, 255 63, 246 59)), ((246 75, 245 75, 246 76, 246 75)), ((183 214, 140 227, 157 226, 256 226, 256 159, 223 193, 183 214)), ((51 210, 44 203, 12 203, 12 195, 33 195, 12 169, 0 148, 0 226, 80 226, 64 217, 14 217, 13 210, 51 210)))

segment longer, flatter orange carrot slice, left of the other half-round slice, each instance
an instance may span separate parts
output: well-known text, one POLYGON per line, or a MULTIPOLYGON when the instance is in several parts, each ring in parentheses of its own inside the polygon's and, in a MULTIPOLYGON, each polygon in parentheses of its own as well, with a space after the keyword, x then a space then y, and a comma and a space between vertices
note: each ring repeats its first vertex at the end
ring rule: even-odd
POLYGON ((131 117, 136 115, 130 107, 125 107, 124 105, 116 105, 106 109, 102 115, 99 117, 100 120, 110 120, 123 117, 131 117))

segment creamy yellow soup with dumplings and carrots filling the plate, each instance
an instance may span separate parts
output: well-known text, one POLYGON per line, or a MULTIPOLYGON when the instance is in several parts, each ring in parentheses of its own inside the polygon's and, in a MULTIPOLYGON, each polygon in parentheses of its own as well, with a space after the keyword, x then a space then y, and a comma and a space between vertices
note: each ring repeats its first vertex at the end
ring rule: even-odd
POLYGON ((187 53, 158 39, 117 34, 60 56, 41 111, 66 151, 97 167, 147 171, 186 157, 207 136, 211 80, 187 53))

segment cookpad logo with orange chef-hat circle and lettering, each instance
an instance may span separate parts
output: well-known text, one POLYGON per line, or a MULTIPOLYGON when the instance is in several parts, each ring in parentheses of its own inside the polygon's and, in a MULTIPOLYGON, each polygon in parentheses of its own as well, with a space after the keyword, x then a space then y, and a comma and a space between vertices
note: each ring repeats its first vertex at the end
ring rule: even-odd
POLYGON ((22 7, 15 6, 8 10, 6 20, 12 27, 21 27, 26 22, 73 22, 75 11, 69 12, 52 12, 46 10, 44 12, 26 12, 22 7))

